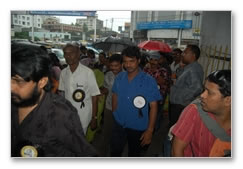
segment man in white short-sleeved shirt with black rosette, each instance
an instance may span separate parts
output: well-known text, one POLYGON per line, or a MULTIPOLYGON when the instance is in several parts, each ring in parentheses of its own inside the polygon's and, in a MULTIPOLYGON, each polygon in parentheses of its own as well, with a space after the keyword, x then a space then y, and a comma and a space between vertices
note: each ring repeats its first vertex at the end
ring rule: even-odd
POLYGON ((59 80, 59 91, 78 110, 86 134, 88 125, 96 128, 97 95, 100 94, 93 71, 80 63, 80 50, 75 44, 63 48, 68 67, 63 69, 59 80))

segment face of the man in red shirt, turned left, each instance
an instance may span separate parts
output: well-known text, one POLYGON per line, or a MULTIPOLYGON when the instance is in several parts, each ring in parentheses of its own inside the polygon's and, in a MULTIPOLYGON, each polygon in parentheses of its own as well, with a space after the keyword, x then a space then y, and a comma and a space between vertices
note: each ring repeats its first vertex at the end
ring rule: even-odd
POLYGON ((222 112, 225 108, 226 97, 223 97, 220 93, 218 85, 213 82, 206 81, 204 87, 204 92, 200 95, 203 110, 214 114, 222 112))

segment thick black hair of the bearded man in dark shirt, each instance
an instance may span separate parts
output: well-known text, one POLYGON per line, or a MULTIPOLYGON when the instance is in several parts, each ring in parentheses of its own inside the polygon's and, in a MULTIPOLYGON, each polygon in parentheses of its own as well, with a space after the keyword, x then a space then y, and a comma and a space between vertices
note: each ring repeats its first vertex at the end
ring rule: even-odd
POLYGON ((43 77, 49 77, 45 91, 51 89, 51 62, 46 51, 41 47, 11 47, 11 77, 20 76, 26 82, 38 82, 43 77))

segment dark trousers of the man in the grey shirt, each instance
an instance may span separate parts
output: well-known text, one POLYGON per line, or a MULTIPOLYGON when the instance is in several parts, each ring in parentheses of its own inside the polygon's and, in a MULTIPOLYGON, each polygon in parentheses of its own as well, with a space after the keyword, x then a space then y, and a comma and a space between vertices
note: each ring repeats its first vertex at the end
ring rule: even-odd
POLYGON ((177 120, 179 119, 181 112, 185 106, 180 105, 180 104, 170 104, 169 106, 169 128, 173 126, 177 120))

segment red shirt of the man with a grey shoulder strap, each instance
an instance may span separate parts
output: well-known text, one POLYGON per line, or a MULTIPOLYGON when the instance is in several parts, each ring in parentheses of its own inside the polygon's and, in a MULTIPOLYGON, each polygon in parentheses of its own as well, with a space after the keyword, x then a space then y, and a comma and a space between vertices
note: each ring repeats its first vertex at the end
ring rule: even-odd
MULTIPOLYGON (((214 115, 208 113, 215 119, 214 115)), ((199 112, 194 104, 187 106, 179 120, 172 129, 172 133, 189 143, 184 150, 185 157, 208 157, 216 137, 208 130, 200 118, 199 112), (192 150, 193 149, 193 154, 192 150)), ((231 133, 229 130, 227 133, 231 133)))

